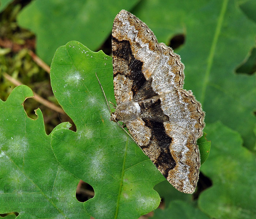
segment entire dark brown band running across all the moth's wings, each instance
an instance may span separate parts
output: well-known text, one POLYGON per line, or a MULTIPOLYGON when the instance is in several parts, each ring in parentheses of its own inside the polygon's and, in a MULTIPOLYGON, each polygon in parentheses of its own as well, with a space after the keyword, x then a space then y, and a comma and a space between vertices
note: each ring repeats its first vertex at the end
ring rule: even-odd
MULTIPOLYGON (((161 100, 149 100, 150 97, 157 98, 158 94, 153 91, 152 88, 152 78, 146 80, 143 72, 142 66, 143 62, 136 59, 132 54, 131 44, 127 40, 118 41, 112 36, 112 50, 113 50, 113 70, 114 77, 117 74, 125 75, 132 82, 132 93, 133 100, 138 102, 144 115, 142 113, 141 118, 145 125, 151 129, 150 142, 157 142, 157 146, 161 151, 157 159, 151 159, 165 178, 167 178, 168 173, 176 166, 176 162, 170 153, 170 145, 172 143, 172 138, 166 134, 163 122, 169 120, 169 116, 165 115, 161 109, 161 100), (118 66, 118 71, 115 69, 115 59, 120 58, 125 61, 128 66, 122 71, 120 66, 118 66), (151 118, 148 119, 147 114, 150 114, 151 118)), ((150 144, 141 146, 142 149, 150 147, 150 144)))

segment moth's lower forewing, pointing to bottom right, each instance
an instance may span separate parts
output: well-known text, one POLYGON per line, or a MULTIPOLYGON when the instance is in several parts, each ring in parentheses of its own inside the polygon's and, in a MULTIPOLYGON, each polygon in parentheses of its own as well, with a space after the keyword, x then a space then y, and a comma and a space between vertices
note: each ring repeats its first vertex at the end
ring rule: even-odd
MULTIPOLYGON (((163 127, 158 123, 138 118, 127 123, 126 126, 143 152, 174 188, 184 193, 195 191, 199 176, 200 154, 192 134, 186 137, 187 150, 181 151, 178 145, 180 141, 176 137, 156 136, 152 132, 152 130, 161 131, 163 127), (175 150, 177 146, 178 149, 175 150), (189 156, 189 159, 185 160, 184 155, 189 156)), ((181 130, 176 130, 176 134, 180 132, 181 130)))

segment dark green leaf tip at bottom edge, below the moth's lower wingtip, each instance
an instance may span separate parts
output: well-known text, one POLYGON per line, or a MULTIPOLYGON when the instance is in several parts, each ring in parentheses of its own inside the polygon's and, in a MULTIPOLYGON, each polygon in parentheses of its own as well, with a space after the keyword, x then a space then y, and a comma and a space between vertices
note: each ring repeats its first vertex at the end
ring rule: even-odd
POLYGON ((209 217, 194 207, 191 203, 182 200, 172 201, 164 210, 157 209, 152 219, 209 219, 209 217))

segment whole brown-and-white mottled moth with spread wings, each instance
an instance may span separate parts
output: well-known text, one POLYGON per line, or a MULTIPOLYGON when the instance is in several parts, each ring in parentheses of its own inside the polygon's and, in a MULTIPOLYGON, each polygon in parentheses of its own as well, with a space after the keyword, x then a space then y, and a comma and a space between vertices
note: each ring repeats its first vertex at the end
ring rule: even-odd
POLYGON ((125 10, 114 19, 112 54, 117 107, 110 120, 125 123, 134 141, 178 191, 193 193, 204 112, 192 92, 183 89, 180 56, 158 43, 147 25, 125 10))

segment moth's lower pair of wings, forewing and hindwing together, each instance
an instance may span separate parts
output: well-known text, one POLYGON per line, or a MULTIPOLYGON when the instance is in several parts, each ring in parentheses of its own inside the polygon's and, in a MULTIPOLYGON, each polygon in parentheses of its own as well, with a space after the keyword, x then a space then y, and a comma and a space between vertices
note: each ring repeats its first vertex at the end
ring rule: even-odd
POLYGON ((151 106, 141 101, 141 109, 146 105, 147 110, 126 124, 163 176, 185 193, 193 193, 196 188, 200 169, 196 140, 204 127, 204 113, 198 111, 200 103, 187 104, 191 99, 192 92, 181 90, 161 95, 151 106))

